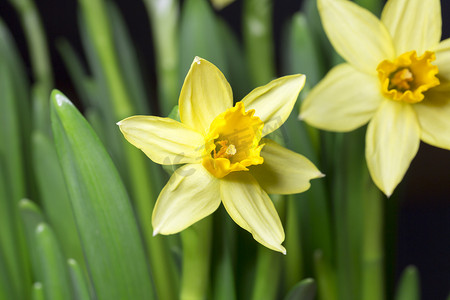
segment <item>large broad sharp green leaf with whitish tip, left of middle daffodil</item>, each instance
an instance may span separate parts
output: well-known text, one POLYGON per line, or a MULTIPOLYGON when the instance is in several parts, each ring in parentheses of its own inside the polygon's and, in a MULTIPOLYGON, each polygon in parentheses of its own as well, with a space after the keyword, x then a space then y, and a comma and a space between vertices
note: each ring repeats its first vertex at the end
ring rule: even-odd
POLYGON ((153 299, 142 241, 124 185, 88 122, 59 91, 53 134, 98 299, 153 299))

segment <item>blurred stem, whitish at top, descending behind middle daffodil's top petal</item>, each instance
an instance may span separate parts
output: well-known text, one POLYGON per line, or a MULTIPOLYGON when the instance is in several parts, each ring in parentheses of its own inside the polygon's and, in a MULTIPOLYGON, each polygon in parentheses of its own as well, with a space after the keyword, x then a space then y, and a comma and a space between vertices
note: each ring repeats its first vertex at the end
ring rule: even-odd
POLYGON ((177 105, 178 82, 178 11, 176 0, 144 0, 150 17, 158 71, 161 112, 169 114, 177 105))

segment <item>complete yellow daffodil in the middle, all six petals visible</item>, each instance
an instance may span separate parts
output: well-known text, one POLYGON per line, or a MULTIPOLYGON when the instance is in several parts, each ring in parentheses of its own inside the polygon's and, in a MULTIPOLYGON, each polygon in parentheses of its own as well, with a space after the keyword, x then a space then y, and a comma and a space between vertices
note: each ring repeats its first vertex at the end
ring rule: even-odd
POLYGON ((286 253, 283 226, 267 193, 303 192, 322 174, 305 157, 262 138, 284 123, 304 83, 304 75, 282 77, 233 106, 223 74, 196 57, 181 89, 181 122, 133 116, 118 123, 125 138, 154 162, 184 164, 158 197, 155 234, 177 233, 222 202, 255 240, 286 253))

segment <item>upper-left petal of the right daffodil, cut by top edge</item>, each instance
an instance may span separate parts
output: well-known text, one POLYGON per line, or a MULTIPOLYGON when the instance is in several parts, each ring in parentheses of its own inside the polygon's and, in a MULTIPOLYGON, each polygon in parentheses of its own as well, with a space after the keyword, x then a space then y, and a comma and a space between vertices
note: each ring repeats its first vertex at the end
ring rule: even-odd
POLYGON ((318 8, 334 48, 355 68, 376 74, 381 61, 394 58, 388 31, 368 10, 347 0, 318 0, 318 8))

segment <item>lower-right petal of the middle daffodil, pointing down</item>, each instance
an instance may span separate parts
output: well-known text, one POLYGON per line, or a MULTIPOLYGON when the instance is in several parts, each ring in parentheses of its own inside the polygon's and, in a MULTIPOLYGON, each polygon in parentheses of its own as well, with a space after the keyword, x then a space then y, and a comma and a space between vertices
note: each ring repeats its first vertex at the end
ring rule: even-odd
POLYGON ((220 195, 228 214, 269 249, 286 253, 283 225, 267 193, 248 172, 234 172, 220 180, 220 195))

